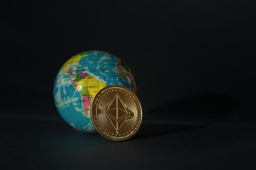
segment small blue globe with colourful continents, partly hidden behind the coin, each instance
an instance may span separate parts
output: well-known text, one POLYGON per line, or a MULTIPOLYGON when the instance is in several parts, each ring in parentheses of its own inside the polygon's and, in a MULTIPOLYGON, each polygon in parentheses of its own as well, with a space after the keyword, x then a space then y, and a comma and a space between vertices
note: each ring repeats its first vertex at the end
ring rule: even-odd
POLYGON ((122 85, 136 93, 128 66, 104 51, 85 51, 63 64, 54 81, 54 102, 61 117, 77 130, 96 133, 90 108, 93 97, 108 85, 122 85))

